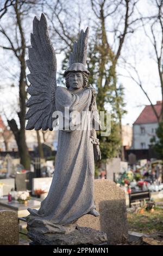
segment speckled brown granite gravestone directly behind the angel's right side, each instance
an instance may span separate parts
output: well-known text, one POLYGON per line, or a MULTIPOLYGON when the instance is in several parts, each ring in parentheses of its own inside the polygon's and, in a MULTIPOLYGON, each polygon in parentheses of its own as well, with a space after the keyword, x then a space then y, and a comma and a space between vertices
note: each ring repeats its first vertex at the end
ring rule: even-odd
POLYGON ((100 216, 85 215, 77 221, 80 227, 104 231, 110 244, 121 243, 128 234, 125 194, 110 180, 95 180, 95 203, 100 216))

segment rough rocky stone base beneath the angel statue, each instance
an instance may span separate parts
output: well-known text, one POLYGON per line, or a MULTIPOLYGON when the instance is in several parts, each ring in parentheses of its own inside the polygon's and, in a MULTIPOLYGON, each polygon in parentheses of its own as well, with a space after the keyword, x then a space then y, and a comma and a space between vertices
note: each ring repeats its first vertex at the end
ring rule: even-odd
POLYGON ((31 245, 101 245, 106 243, 107 236, 103 231, 92 228, 77 227, 70 233, 42 233, 38 228, 29 229, 31 245))

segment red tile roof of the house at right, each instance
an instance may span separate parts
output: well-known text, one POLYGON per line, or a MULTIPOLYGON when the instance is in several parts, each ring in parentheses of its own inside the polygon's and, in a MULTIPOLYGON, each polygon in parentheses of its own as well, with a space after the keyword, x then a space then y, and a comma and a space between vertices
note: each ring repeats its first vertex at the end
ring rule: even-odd
MULTIPOLYGON (((157 101, 154 108, 156 113, 160 115, 161 113, 162 102, 157 101)), ((150 123, 158 123, 158 119, 155 116, 155 113, 152 109, 151 105, 145 106, 139 117, 136 119, 134 124, 150 124, 150 123)))

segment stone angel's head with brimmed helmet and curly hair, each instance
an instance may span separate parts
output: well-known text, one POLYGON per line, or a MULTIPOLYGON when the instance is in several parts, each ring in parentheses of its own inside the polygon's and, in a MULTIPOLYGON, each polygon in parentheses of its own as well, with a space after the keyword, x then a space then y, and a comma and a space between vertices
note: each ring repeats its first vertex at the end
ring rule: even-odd
POLYGON ((88 83, 89 70, 82 63, 73 63, 65 71, 66 87, 72 90, 86 88, 88 83))

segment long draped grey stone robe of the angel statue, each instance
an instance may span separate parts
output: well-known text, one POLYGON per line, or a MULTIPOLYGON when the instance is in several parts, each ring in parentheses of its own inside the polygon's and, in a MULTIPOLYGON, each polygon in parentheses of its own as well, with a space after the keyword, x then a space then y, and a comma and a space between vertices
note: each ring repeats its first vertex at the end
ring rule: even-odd
MULTIPOLYGON (((55 106, 63 115, 65 107, 70 107, 70 112, 75 110, 82 114, 82 111, 89 111, 91 99, 90 88, 72 92, 57 87, 55 106)), ((89 122, 89 118, 84 119, 85 129, 59 130, 52 184, 47 197, 41 202, 40 209, 29 209, 31 215, 66 225, 95 209, 95 163, 89 122)))

